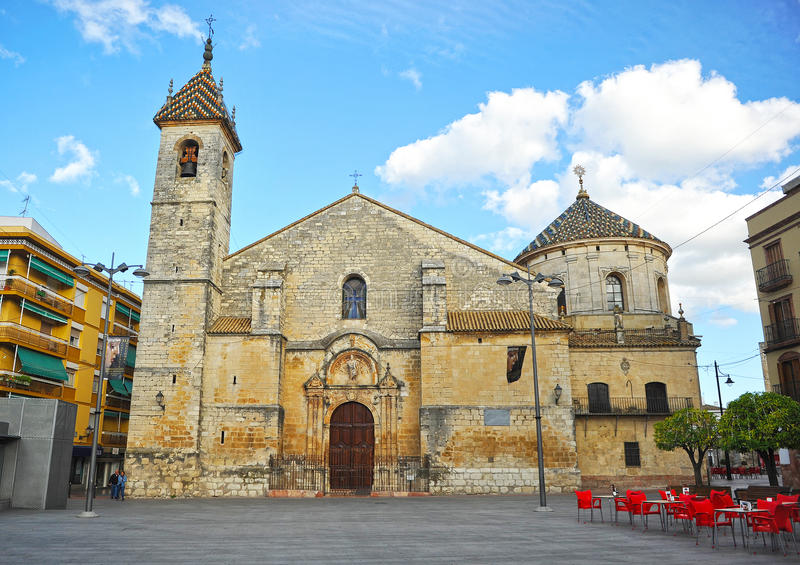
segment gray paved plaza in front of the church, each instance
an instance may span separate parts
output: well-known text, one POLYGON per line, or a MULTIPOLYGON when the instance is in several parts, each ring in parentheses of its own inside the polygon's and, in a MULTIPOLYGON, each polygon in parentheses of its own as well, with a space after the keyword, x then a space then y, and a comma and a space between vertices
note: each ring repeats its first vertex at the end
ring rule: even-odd
MULTIPOLYGON (((670 563, 798 562, 710 538, 576 520, 574 495, 97 500, 0 513, 0 563, 670 563)), ((738 533, 738 528, 737 528, 738 533)), ((738 537, 738 536, 737 536, 738 537)), ((769 541, 768 541, 769 543, 769 541)))

